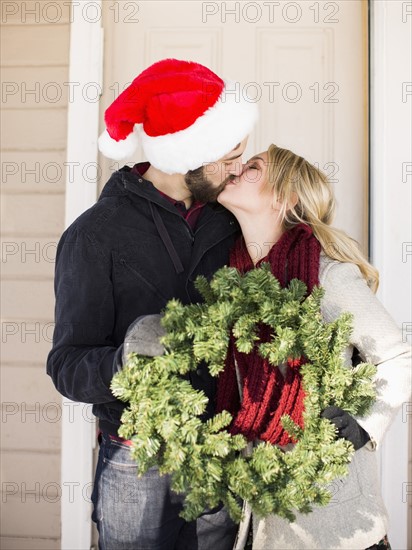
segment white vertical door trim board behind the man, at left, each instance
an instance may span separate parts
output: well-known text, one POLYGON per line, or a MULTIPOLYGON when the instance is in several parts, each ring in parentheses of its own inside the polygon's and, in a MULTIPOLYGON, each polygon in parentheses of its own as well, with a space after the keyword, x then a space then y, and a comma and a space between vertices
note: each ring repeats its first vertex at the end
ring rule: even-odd
MULTIPOLYGON (((91 4, 91 3, 88 3, 91 4)), ((67 227, 96 202, 97 137, 102 89, 103 29, 101 0, 83 13, 72 5, 66 157, 67 227), (99 17, 100 10, 100 17, 99 17)), ((62 400, 61 548, 89 550, 91 546, 91 487, 96 438, 91 406, 62 400)))

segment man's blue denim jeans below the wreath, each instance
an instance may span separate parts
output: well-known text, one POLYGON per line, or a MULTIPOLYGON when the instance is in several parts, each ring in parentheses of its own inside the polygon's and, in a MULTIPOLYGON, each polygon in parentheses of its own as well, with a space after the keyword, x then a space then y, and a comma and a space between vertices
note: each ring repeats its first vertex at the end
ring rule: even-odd
POLYGON ((100 550, 231 550, 236 538, 238 526, 224 507, 184 521, 183 497, 171 491, 169 476, 151 468, 138 478, 130 447, 106 434, 92 501, 100 550))

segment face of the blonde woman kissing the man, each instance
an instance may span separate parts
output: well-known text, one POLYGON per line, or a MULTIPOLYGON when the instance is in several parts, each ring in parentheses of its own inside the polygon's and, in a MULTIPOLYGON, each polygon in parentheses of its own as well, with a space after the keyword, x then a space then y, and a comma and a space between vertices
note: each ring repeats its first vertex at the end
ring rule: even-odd
POLYGON ((252 157, 244 166, 242 173, 226 184, 217 201, 228 210, 248 213, 262 213, 272 208, 273 195, 264 191, 268 177, 267 151, 252 157))

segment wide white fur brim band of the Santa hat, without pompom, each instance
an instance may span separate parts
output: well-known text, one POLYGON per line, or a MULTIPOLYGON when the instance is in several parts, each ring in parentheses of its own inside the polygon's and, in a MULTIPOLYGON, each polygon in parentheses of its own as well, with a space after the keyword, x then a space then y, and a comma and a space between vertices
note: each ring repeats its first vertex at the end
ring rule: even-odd
POLYGON ((185 130, 156 137, 142 131, 147 160, 167 174, 186 174, 229 153, 252 131, 258 116, 256 103, 232 89, 226 83, 216 104, 185 130))

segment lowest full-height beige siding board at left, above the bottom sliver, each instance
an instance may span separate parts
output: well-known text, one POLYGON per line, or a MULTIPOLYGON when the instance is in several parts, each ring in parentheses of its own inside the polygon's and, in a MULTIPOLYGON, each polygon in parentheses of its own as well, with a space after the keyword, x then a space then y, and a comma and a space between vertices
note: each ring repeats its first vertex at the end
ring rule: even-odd
MULTIPOLYGON (((31 488, 31 487, 30 487, 31 488)), ((4 494, 3 494, 4 498, 4 494)), ((52 500, 52 497, 47 497, 52 500)), ((34 537, 58 537, 60 535, 60 502, 48 502, 42 496, 28 495, 8 497, 1 507, 3 535, 21 535, 22 530, 34 537), (36 502, 37 500, 40 501, 36 502)), ((4 502, 4 501, 3 501, 4 502)))

